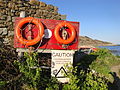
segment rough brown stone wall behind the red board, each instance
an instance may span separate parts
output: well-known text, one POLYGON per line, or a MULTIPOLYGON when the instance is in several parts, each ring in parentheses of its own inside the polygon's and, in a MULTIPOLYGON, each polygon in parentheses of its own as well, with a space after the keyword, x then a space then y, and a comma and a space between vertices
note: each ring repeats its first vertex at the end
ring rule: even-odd
POLYGON ((25 11, 26 17, 43 19, 65 19, 58 13, 58 8, 37 0, 0 0, 0 44, 13 42, 14 19, 25 11))

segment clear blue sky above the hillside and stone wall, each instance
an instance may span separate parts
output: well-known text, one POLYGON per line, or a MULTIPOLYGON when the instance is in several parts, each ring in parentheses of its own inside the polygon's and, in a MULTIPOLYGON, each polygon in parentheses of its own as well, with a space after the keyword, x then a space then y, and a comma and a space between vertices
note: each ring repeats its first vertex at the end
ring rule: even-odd
POLYGON ((80 36, 120 44, 120 0, 40 0, 80 22, 80 36))

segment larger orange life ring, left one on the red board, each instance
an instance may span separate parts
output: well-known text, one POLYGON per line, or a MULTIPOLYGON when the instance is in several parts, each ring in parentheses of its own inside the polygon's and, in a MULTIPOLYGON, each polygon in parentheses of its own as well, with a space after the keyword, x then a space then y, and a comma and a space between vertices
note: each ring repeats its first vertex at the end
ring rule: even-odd
POLYGON ((33 18, 33 17, 27 17, 27 18, 23 18, 22 20, 18 22, 17 26, 15 27, 15 34, 21 44, 28 45, 28 46, 35 45, 42 39, 43 34, 44 34, 44 27, 43 27, 43 24, 38 19, 33 18), (38 35, 36 36, 36 38, 32 40, 27 40, 23 38, 21 34, 21 28, 26 23, 33 23, 36 25, 36 27, 38 27, 39 30, 38 30, 38 35))

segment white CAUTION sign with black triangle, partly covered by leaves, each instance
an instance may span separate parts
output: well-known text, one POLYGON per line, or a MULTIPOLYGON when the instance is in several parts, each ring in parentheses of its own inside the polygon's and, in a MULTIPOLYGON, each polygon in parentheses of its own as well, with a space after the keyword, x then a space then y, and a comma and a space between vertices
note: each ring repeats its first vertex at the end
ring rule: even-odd
POLYGON ((69 81, 69 78, 63 75, 63 73, 67 75, 64 65, 73 63, 73 54, 73 50, 52 50, 51 75, 60 82, 69 81))

